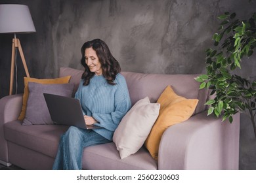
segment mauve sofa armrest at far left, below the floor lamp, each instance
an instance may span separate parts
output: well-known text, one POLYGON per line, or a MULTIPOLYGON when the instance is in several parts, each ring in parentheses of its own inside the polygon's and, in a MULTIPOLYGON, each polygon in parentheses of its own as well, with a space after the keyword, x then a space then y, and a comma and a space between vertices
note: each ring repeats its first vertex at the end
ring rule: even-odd
POLYGON ((0 163, 9 165, 7 141, 3 126, 18 119, 22 108, 22 94, 8 95, 0 99, 0 163))

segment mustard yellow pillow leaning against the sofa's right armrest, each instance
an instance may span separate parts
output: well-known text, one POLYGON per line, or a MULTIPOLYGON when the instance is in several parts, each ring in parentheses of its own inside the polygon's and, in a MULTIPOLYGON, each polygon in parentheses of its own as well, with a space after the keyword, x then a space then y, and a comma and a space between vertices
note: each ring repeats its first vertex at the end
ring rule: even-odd
POLYGON ((145 146, 154 159, 158 159, 161 136, 165 129, 188 120, 196 109, 196 105, 198 105, 198 99, 181 97, 173 91, 171 86, 167 86, 157 103, 160 103, 159 116, 145 141, 145 146))

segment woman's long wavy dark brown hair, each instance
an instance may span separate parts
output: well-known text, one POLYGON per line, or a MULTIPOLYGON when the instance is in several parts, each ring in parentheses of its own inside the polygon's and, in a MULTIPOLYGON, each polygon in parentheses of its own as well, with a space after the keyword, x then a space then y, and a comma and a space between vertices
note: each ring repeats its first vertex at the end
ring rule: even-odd
POLYGON ((91 72, 88 65, 85 63, 85 49, 93 48, 95 50, 96 55, 101 63, 102 67, 102 75, 106 78, 108 84, 115 85, 114 80, 116 79, 116 75, 121 72, 121 67, 118 61, 112 56, 110 49, 106 42, 100 39, 94 39, 92 41, 87 41, 81 47, 81 65, 85 68, 85 72, 82 75, 82 79, 84 80, 83 85, 87 86, 90 83, 90 79, 95 75, 95 73, 91 72))

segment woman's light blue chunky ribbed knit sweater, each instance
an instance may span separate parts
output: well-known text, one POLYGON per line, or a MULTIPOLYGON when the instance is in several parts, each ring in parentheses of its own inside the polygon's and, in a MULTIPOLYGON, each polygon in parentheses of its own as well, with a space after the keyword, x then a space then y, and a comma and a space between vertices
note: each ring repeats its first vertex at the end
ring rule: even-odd
POLYGON ((117 125, 131 108, 124 76, 117 74, 114 82, 116 85, 110 85, 103 75, 95 75, 87 86, 83 86, 81 80, 75 93, 75 98, 80 100, 83 114, 93 116, 97 121, 95 125, 103 127, 93 130, 110 141, 117 125))

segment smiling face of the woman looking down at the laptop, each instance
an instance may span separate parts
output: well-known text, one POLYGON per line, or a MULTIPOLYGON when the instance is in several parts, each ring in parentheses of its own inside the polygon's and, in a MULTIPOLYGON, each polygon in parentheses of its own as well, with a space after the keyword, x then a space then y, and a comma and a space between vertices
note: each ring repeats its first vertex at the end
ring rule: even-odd
POLYGON ((85 63, 88 65, 91 72, 96 75, 102 75, 101 63, 98 60, 98 56, 93 48, 85 49, 85 63))

